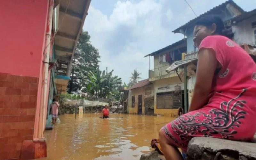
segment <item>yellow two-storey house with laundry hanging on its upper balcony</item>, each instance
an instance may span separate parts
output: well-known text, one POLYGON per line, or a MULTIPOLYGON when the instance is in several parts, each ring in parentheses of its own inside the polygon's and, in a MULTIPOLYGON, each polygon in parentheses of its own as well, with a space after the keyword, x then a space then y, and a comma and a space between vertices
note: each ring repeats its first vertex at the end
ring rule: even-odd
POLYGON ((182 39, 145 57, 154 57, 154 69, 148 72, 148 81, 153 84, 154 114, 176 116, 177 109, 184 107, 183 78, 176 71, 165 70, 175 61, 184 59, 187 52, 187 39, 182 39))

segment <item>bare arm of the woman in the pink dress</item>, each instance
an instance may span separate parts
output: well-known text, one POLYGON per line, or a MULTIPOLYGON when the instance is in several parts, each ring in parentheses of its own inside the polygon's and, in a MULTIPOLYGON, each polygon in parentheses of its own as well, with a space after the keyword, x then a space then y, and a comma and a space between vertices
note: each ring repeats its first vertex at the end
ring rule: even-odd
POLYGON ((196 68, 196 84, 188 112, 202 108, 205 103, 207 103, 212 87, 212 79, 217 66, 218 61, 212 49, 199 50, 196 68))

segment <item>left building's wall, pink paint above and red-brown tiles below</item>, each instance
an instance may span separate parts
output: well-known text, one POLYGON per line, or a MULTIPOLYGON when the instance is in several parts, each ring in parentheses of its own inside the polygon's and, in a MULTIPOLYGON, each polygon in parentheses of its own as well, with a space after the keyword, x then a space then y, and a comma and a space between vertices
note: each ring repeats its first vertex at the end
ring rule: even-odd
POLYGON ((0 1, 0 159, 35 158, 23 144, 38 138, 48 7, 48 0, 0 1))

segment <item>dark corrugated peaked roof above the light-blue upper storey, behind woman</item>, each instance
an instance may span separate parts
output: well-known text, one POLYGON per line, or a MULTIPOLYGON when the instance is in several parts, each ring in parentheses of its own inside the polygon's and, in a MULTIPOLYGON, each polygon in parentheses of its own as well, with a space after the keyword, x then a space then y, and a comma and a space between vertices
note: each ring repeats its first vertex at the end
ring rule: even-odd
POLYGON ((199 15, 198 17, 194 18, 193 20, 188 21, 186 24, 180 26, 179 28, 173 30, 172 32, 173 32, 173 33, 180 33, 180 29, 185 28, 185 27, 191 25, 192 23, 195 23, 196 20, 199 20, 199 18, 201 18, 201 17, 203 17, 203 16, 206 16, 206 15, 208 15, 208 14, 211 14, 212 12, 218 10, 220 7, 223 7, 224 5, 227 5, 228 3, 233 4, 240 12, 242 12, 242 13, 244 12, 244 10, 243 10, 241 7, 239 7, 234 1, 228 0, 228 1, 226 1, 226 2, 224 2, 224 3, 222 3, 222 4, 220 4, 220 5, 218 5, 218 6, 214 7, 214 8, 212 8, 211 10, 209 10, 209 11, 207 11, 207 12, 204 12, 203 14, 201 14, 201 15, 199 15))

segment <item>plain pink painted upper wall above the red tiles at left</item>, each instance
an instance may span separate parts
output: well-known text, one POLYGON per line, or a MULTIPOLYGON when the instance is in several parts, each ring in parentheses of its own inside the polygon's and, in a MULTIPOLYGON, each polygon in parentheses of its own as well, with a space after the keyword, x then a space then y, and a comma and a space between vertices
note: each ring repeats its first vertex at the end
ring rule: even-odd
POLYGON ((1 0, 0 11, 0 73, 39 77, 48 0, 1 0))

